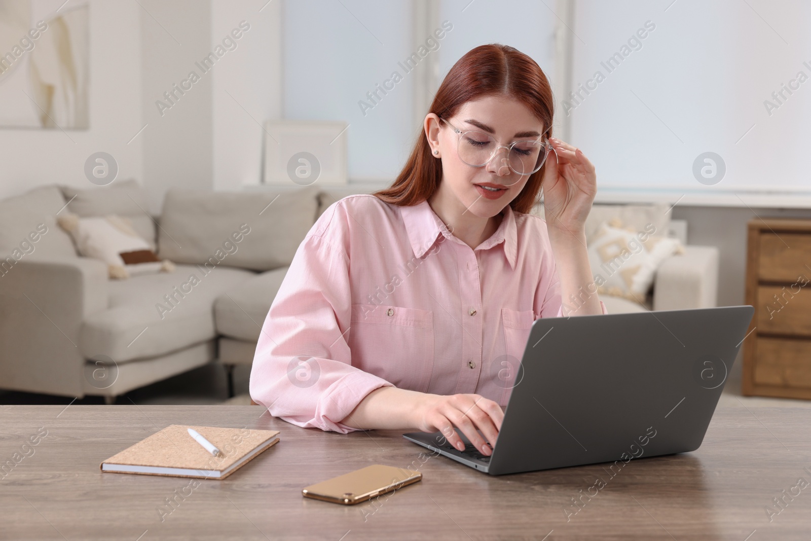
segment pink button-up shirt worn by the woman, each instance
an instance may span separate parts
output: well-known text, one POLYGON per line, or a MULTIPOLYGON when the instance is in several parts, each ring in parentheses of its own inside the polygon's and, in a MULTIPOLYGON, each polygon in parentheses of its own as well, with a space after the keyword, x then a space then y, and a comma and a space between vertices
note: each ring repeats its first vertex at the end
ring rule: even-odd
POLYGON ((299 427, 342 433, 384 385, 505 407, 533 321, 561 315, 542 218, 506 206, 473 249, 427 201, 350 195, 296 251, 264 320, 251 397, 299 427))

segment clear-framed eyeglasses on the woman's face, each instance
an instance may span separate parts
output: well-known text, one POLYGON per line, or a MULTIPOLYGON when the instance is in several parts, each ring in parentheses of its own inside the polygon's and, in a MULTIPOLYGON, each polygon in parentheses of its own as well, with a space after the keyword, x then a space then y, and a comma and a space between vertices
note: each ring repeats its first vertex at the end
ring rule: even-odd
MULTIPOLYGON (((506 165, 519 175, 533 174, 547 160, 551 144, 549 140, 517 140, 508 147, 498 144, 496 139, 483 131, 461 131, 444 118, 440 118, 459 135, 457 152, 459 159, 471 167, 483 167, 490 163, 501 148, 507 149, 506 165)), ((504 158, 503 158, 504 160, 504 158)), ((501 162, 502 166, 504 161, 501 162)))

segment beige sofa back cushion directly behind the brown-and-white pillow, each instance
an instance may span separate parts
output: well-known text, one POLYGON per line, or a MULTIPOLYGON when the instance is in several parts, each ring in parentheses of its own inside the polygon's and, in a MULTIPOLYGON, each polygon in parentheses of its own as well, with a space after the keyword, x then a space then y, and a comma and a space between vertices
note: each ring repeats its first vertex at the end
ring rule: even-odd
POLYGON ((60 186, 67 209, 80 217, 107 216, 118 214, 132 222, 132 228, 143 237, 154 250, 155 221, 147 213, 147 193, 134 179, 120 180, 108 186, 77 188, 60 186))

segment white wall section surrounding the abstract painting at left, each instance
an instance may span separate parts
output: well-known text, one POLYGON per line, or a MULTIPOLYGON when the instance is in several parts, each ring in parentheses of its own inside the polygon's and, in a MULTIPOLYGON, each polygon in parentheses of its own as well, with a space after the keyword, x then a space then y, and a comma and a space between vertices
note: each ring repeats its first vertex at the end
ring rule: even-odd
MULTIPOLYGON (((61 3, 56 2, 54 10, 61 3)), ((144 125, 141 8, 137 2, 90 0, 89 4, 90 129, 67 130, 65 135, 59 129, 0 128, 0 199, 42 184, 92 187, 84 176, 84 161, 93 152, 113 155, 118 178, 144 176, 143 140, 127 144, 144 125)), ((8 106, 8 101, 0 99, 0 107, 4 104, 8 106)))

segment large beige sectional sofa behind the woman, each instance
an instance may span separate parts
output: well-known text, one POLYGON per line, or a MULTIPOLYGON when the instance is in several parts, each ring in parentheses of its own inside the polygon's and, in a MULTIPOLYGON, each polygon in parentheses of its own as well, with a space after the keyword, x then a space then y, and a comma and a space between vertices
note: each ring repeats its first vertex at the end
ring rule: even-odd
MULTIPOLYGON (((0 201, 0 388, 112 402, 213 361, 250 364, 298 244, 324 208, 355 192, 169 191, 159 219, 134 181, 0 201), (110 280, 105 264, 76 254, 60 212, 129 217, 177 268, 110 280)), ((688 247, 659 269, 648 306, 601 298, 613 313, 710 307, 717 281, 717 250, 688 247)))

